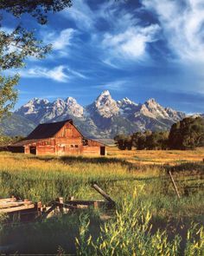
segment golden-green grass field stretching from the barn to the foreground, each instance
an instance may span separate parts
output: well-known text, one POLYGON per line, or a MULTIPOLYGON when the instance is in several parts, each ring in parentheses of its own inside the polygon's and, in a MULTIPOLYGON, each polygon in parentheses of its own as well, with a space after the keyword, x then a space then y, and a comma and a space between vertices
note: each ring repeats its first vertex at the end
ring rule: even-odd
POLYGON ((13 194, 43 203, 71 195, 101 199, 91 187, 94 181, 116 201, 117 210, 92 209, 26 225, 6 225, 2 216, 0 248, 9 253, 59 255, 203 255, 203 158, 203 148, 108 148, 108 155, 99 158, 2 153, 0 198, 13 194), (168 170, 175 177, 181 200, 168 170), (111 220, 101 220, 107 214, 111 220))

